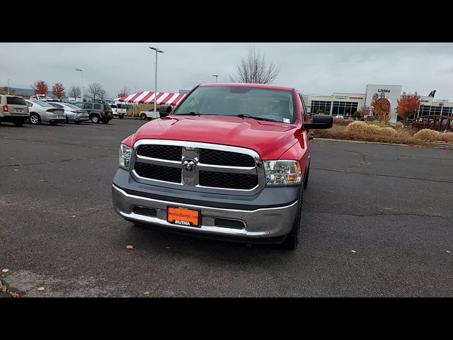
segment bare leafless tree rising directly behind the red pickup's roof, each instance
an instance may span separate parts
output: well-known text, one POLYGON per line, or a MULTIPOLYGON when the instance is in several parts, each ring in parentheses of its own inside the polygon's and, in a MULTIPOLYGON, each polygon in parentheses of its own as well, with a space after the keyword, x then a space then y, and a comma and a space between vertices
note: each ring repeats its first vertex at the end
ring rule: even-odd
POLYGON ((247 57, 242 58, 238 64, 236 76, 230 76, 230 79, 239 83, 269 84, 277 79, 278 74, 280 74, 280 67, 272 62, 266 62, 260 50, 257 52, 252 46, 248 49, 247 57))

